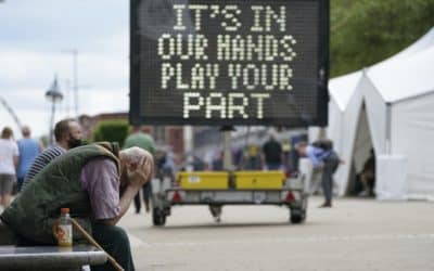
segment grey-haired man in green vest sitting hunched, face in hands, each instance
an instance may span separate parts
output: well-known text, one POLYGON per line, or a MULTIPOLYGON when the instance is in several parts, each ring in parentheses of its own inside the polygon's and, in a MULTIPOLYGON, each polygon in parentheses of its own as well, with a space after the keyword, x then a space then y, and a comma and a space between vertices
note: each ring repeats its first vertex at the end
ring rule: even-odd
MULTIPOLYGON (((152 155, 117 144, 71 150, 44 167, 0 216, 21 244, 56 244, 52 224, 60 209, 75 218, 125 270, 135 270, 126 232, 115 224, 153 172, 152 155), (125 188, 119 196, 120 186, 125 188)), ((82 236, 74 232, 74 241, 82 236)), ((106 263, 92 270, 112 270, 106 263)))

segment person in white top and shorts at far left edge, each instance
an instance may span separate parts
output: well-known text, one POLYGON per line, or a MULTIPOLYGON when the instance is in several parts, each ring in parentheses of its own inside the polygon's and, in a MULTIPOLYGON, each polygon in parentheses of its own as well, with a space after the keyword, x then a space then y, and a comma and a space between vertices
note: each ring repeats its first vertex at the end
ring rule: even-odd
POLYGON ((18 165, 18 146, 13 140, 12 129, 4 127, 0 138, 0 205, 7 207, 16 182, 16 166, 18 165))

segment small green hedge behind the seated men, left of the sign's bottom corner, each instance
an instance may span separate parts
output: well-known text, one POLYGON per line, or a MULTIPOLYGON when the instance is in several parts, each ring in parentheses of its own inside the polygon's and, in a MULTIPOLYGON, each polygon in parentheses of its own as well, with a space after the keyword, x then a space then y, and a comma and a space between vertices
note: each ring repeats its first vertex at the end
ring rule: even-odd
POLYGON ((118 142, 122 146, 129 132, 129 125, 125 120, 104 120, 98 124, 94 141, 118 142))

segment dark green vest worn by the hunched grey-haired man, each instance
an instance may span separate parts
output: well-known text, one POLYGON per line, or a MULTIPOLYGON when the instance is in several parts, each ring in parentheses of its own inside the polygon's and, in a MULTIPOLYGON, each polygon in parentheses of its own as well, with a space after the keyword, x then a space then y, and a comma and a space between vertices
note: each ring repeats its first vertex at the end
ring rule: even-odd
MULTIPOLYGON (((66 207, 71 216, 91 233, 91 206, 87 191, 80 185, 81 169, 87 162, 101 156, 112 158, 119 167, 113 151, 110 144, 104 147, 90 144, 56 157, 35 176, 3 211, 1 219, 18 235, 51 245, 56 244, 53 222, 59 219, 61 208, 66 207)), ((82 240, 76 230, 73 232, 75 241, 82 240)))

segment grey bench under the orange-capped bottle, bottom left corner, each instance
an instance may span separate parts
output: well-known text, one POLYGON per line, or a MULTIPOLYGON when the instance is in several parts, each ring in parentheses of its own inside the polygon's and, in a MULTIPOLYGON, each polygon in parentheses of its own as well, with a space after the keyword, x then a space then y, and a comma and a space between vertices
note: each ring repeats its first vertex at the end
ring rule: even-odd
POLYGON ((0 270, 79 271, 82 266, 102 264, 106 255, 93 246, 0 246, 0 270))

